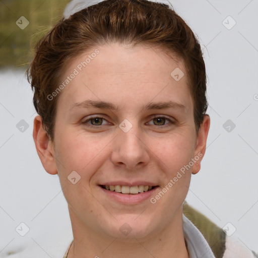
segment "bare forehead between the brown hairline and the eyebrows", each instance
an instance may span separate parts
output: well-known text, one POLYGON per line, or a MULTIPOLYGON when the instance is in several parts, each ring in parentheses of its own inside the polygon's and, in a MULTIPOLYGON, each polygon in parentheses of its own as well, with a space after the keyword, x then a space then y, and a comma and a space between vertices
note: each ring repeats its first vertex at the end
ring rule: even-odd
POLYGON ((67 65, 60 83, 73 74, 62 90, 64 96, 59 96, 70 105, 86 98, 113 98, 117 104, 124 104, 127 100, 171 99, 176 94, 189 102, 183 60, 160 47, 119 43, 96 46, 67 65))

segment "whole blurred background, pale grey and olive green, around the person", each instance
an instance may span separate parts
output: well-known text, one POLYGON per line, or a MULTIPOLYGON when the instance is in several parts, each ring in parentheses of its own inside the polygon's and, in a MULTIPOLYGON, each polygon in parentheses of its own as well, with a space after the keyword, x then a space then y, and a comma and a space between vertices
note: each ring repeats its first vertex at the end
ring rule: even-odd
MULTIPOLYGON (((73 239, 59 179, 35 150, 25 78, 35 43, 67 3, 0 1, 0 257, 62 258, 73 239)), ((258 1, 170 3, 198 35, 208 75, 211 128, 186 201, 258 252, 258 1)))

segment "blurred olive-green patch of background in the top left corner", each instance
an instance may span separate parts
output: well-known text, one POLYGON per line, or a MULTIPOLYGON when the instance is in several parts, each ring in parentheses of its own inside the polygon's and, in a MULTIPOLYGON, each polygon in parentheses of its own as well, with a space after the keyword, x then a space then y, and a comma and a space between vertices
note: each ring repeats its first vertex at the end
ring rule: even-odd
POLYGON ((62 17, 67 3, 69 0, 1 1, 0 69, 26 69, 35 43, 62 17))

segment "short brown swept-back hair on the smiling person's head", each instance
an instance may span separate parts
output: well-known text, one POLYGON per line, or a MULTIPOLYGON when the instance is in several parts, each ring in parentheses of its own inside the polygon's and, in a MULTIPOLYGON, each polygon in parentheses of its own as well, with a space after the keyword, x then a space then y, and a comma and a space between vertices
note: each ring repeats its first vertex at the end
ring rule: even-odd
POLYGON ((161 46, 183 59, 198 132, 208 103, 205 63, 195 34, 168 5, 147 0, 105 0, 62 18, 35 47, 27 78, 34 90, 33 104, 51 140, 60 94, 53 100, 47 96, 59 85, 70 60, 109 42, 161 46))

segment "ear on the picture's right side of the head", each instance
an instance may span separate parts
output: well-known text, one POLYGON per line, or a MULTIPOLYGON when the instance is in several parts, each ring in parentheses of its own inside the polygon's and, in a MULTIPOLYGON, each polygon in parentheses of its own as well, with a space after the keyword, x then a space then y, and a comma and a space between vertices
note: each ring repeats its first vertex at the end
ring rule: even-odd
POLYGON ((209 115, 204 115, 204 120, 200 125, 196 148, 194 152, 193 159, 196 160, 196 163, 192 166, 192 174, 197 174, 201 169, 201 161, 204 157, 206 150, 206 143, 208 138, 208 133, 210 129, 211 119, 209 115))

